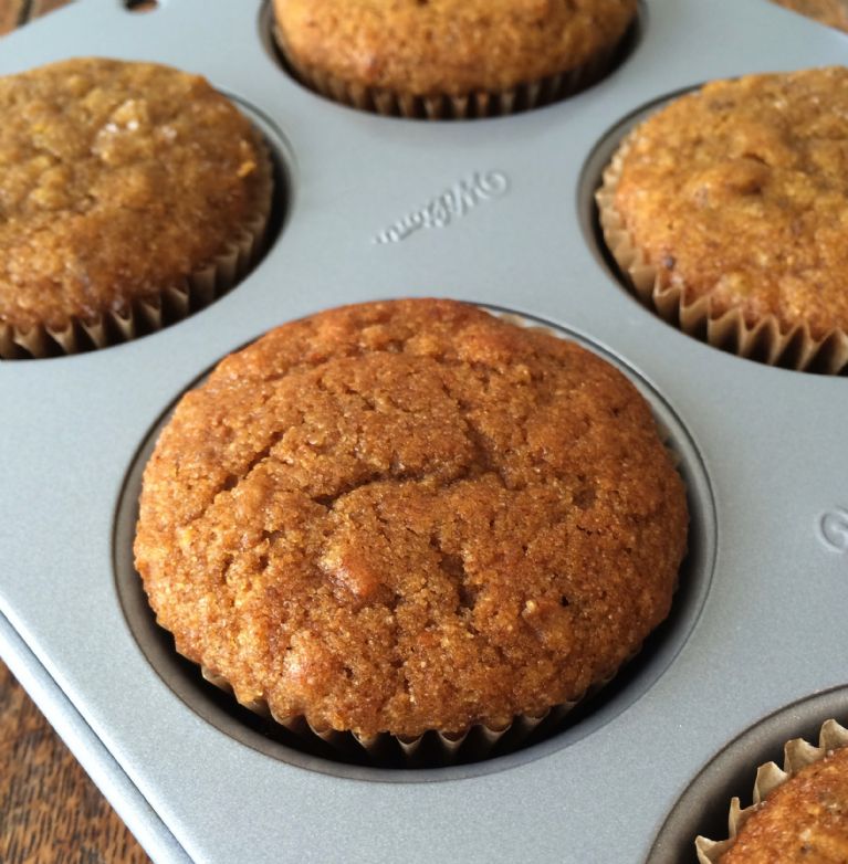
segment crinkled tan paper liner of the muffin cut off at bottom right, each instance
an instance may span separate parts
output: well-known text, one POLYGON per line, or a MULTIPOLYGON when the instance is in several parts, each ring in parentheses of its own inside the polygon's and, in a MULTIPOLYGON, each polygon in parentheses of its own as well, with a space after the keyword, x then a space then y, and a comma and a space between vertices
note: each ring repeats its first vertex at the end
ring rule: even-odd
POLYGON ((814 747, 803 738, 794 738, 784 746, 784 763, 781 770, 774 762, 761 765, 756 771, 754 782, 754 803, 751 807, 741 808, 739 798, 734 798, 730 804, 727 815, 726 840, 709 840, 704 836, 695 839, 695 851, 700 864, 716 864, 721 856, 733 845, 736 835, 747 820, 760 809, 762 802, 777 787, 794 777, 802 768, 818 762, 828 754, 840 747, 848 747, 848 729, 836 720, 825 720, 819 731, 818 747, 814 747))

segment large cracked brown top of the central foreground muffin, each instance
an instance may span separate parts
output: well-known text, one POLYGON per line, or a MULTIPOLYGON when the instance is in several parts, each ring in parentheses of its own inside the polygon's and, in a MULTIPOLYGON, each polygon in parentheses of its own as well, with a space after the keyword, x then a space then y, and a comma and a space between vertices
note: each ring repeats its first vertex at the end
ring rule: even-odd
POLYGON ((135 552, 179 652, 240 702, 417 736, 611 676, 669 612, 687 524, 620 372, 410 299, 286 324, 187 393, 135 552))

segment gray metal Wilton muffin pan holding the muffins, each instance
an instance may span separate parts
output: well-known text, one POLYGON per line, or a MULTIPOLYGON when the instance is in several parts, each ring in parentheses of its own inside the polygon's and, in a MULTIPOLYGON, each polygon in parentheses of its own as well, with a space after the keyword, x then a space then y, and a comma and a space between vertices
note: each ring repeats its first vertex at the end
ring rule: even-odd
POLYGON ((258 3, 160 0, 142 15, 80 0, 0 42, 0 73, 85 54, 203 73, 289 175, 280 238, 208 309, 128 345, 0 363, 0 653, 155 861, 692 861, 687 834, 727 771, 739 762, 744 794, 763 740, 796 734, 762 718, 783 710, 805 733, 823 708, 805 698, 825 689, 827 712, 848 716, 848 382, 656 318, 593 245, 589 196, 593 152, 643 105, 839 63, 848 41, 765 0, 649 0, 641 19, 593 88, 470 123, 380 118, 305 91, 266 50, 258 3), (462 183, 451 209, 442 196, 462 183), (692 552, 669 624, 565 730, 473 765, 392 770, 268 739, 198 689, 144 624, 128 545, 145 442, 219 358, 322 308, 423 295, 541 319, 621 366, 681 456, 692 552))

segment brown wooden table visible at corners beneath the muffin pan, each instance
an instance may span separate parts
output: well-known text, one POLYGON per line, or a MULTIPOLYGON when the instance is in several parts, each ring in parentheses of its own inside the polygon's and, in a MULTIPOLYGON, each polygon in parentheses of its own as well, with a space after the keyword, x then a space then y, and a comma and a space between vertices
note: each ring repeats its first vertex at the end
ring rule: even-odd
MULTIPOLYGON (((0 34, 65 2, 0 0, 0 34)), ((775 2, 848 31, 848 0, 775 2)), ((0 862, 145 864, 148 861, 0 661, 0 862)))

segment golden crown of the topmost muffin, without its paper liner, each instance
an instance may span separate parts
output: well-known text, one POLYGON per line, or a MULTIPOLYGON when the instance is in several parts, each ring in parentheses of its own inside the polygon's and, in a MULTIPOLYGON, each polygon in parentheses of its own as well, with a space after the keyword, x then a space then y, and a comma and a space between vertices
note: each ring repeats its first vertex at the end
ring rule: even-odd
POLYGON ((300 64, 396 93, 503 91, 617 44, 636 0, 274 0, 300 64))

